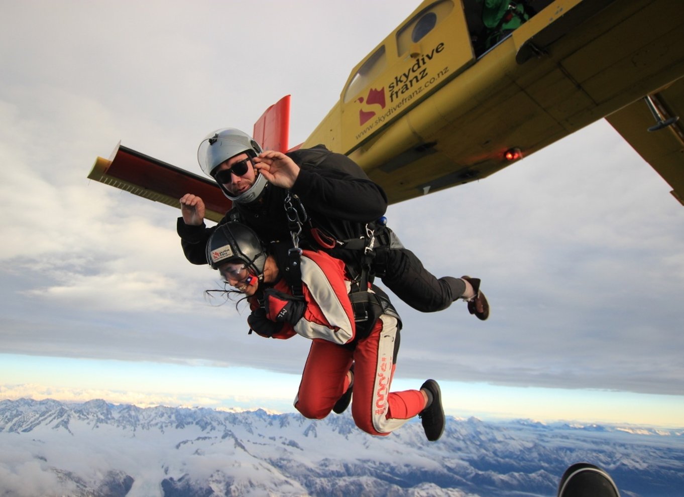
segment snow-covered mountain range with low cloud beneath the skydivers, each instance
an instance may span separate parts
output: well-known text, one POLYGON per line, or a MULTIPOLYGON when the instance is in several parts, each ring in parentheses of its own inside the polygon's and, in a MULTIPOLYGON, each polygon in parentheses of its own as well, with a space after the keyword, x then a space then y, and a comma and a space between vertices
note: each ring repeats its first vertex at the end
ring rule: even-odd
POLYGON ((622 496, 681 496, 684 430, 448 418, 388 437, 348 414, 0 402, 0 496, 555 496, 577 461, 622 496))

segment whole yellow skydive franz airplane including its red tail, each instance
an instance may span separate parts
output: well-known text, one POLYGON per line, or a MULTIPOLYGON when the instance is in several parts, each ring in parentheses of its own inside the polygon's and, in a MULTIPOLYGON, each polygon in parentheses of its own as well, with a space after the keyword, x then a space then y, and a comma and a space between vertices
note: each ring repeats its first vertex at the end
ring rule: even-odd
MULTIPOLYGON (((606 118, 684 204, 684 0, 510 1, 504 16, 525 10, 512 31, 487 27, 486 3, 423 1, 300 146, 349 156, 399 202, 485 178, 606 118)), ((286 96, 254 125, 263 148, 288 150, 289 107, 286 96)), ((230 206, 209 178, 124 146, 88 177, 176 207, 195 193, 214 221, 230 206)))

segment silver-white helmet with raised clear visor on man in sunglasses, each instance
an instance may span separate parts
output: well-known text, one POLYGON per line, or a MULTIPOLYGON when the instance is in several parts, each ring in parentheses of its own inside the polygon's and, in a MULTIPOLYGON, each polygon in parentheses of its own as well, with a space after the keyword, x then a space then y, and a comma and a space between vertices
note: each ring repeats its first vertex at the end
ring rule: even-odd
MULTIPOLYGON (((216 168, 222 163, 240 154, 247 154, 250 159, 254 159, 261 153, 261 146, 254 141, 250 135, 235 128, 224 128, 212 131, 202 139, 197 150, 197 160, 202 171, 214 180, 216 168)), ((238 204, 249 204, 254 202, 261 195, 267 185, 267 180, 263 174, 255 172, 254 184, 246 191, 234 196, 222 183, 218 183, 223 194, 238 204)))

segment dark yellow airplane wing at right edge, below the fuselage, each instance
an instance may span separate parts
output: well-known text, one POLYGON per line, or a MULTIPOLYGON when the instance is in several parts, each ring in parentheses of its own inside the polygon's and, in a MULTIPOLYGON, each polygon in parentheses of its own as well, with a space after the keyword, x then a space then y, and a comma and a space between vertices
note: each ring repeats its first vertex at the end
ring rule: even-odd
POLYGON ((606 120, 668 182, 672 196, 684 205, 684 122, 676 120, 678 116, 684 116, 684 78, 606 120))

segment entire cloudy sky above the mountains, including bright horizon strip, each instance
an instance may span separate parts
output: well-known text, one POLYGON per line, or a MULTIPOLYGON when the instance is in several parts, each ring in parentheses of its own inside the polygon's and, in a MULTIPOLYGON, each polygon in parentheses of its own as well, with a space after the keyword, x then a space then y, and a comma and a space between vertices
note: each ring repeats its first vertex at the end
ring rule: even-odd
MULTIPOLYGON (((202 137, 251 129, 288 93, 301 142, 416 4, 2 3, 0 399, 289 409, 308 342, 248 336, 244 311, 205 299, 218 278, 183 257, 174 209, 86 175, 120 140, 199 173, 202 137)), ((482 278, 492 305, 483 323, 462 302, 397 303, 395 388, 434 377, 458 416, 684 425, 684 208, 669 191, 601 121, 391 206, 431 271, 482 278)))

